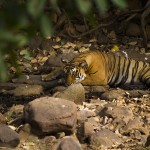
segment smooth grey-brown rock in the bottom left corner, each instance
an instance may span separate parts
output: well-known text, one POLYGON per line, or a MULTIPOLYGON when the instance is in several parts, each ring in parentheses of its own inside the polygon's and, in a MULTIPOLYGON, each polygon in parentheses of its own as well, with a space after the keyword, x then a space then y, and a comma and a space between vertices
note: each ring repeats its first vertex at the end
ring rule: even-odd
POLYGON ((0 124, 0 147, 16 147, 20 142, 18 134, 6 125, 0 124))

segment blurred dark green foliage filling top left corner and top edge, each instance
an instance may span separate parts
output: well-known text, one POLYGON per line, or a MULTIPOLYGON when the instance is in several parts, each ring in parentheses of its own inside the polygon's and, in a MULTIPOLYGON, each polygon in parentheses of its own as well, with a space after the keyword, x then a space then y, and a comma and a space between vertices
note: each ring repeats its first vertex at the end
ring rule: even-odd
POLYGON ((10 56, 9 61, 17 68, 18 48, 25 46, 37 32, 43 37, 52 35, 50 14, 57 7, 87 15, 92 13, 93 4, 104 12, 110 2, 120 8, 126 6, 125 0, 0 0, 0 80, 8 78, 5 55, 10 56), (45 11, 47 6, 49 13, 45 11))

